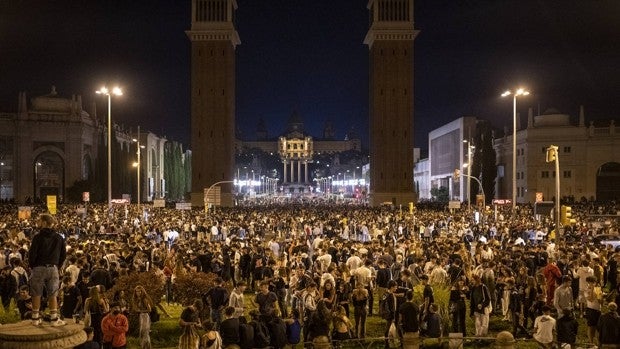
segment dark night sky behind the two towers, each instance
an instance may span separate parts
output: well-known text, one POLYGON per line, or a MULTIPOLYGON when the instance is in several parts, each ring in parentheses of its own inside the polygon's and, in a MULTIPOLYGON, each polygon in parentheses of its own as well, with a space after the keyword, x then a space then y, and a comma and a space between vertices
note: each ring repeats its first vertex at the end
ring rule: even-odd
MULTIPOLYGON (((237 125, 270 136, 297 109, 306 130, 326 120, 344 137, 368 137, 366 0, 238 0, 237 125)), ((19 91, 85 103, 102 84, 125 92, 113 101, 119 123, 189 143, 189 1, 0 0, 0 110, 19 91)), ((612 119, 620 110, 620 1, 417 0, 415 3, 415 144, 461 116, 512 124, 520 99, 576 119, 612 119)), ((99 114, 105 102, 99 97, 99 114)))

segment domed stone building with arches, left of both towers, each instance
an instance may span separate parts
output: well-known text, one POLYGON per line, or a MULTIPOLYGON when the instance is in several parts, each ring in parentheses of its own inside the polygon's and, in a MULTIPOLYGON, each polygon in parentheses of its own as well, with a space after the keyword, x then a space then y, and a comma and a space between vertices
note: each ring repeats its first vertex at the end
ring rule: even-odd
MULTIPOLYGON (((65 98, 55 87, 30 100, 20 92, 17 111, 0 112, 0 199, 26 203, 55 195, 63 201, 76 182, 96 180, 106 166, 107 127, 97 117, 94 99, 89 111, 80 95, 65 98)), ((137 160, 136 134, 115 125, 114 135, 129 173, 131 162, 137 160)), ((166 140, 150 132, 140 133, 139 138, 145 146, 140 161, 141 200, 146 201, 164 193, 161 164, 166 140)), ((102 180, 99 187, 105 183, 102 180)))

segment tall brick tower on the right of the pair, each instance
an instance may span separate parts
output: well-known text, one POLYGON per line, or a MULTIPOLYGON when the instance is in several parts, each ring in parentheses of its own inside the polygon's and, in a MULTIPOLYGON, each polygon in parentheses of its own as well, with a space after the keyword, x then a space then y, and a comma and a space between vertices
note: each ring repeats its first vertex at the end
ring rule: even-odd
POLYGON ((370 203, 413 191, 413 0, 369 0, 370 203))

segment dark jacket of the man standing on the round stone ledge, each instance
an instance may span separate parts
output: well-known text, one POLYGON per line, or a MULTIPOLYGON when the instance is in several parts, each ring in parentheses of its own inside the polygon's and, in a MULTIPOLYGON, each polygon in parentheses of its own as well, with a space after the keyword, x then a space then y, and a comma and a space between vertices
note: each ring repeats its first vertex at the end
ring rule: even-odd
POLYGON ((32 238, 28 251, 28 265, 30 268, 45 265, 62 266, 67 257, 65 239, 50 228, 42 228, 32 238))

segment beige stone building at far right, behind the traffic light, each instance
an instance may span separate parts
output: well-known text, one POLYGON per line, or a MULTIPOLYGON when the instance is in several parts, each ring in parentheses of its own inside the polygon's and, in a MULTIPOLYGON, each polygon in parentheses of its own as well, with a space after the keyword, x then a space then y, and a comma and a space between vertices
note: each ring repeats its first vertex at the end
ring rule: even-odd
MULTIPOLYGON (((507 134, 507 132, 505 132, 507 134)), ((536 193, 545 201, 555 194, 555 178, 560 176, 560 197, 575 200, 612 200, 620 198, 620 129, 611 121, 585 122, 581 107, 577 123, 570 115, 549 109, 533 115, 530 109, 527 127, 518 129, 517 203, 533 203, 536 193), (554 163, 546 162, 546 149, 558 146, 560 173, 554 163)), ((496 197, 512 194, 512 135, 494 141, 498 175, 496 197)))

